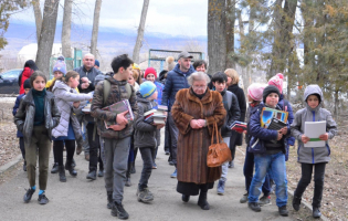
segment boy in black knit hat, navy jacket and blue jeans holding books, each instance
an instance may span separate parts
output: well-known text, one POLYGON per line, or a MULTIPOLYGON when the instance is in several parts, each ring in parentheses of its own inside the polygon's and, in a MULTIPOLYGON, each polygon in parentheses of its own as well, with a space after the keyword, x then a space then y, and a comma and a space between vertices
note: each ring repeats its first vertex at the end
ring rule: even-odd
POLYGON ((260 104, 250 119, 250 135, 252 136, 250 151, 254 152, 255 175, 249 190, 249 208, 260 212, 259 197, 261 186, 266 177, 266 173, 272 173, 276 185, 276 206, 278 212, 283 217, 288 215, 286 209, 287 203, 287 180, 285 166, 285 141, 284 136, 289 134, 289 129, 284 127, 280 130, 272 130, 261 127, 261 113, 264 106, 275 109, 281 109, 277 106, 280 99, 280 91, 276 86, 270 85, 263 91, 263 103, 260 104), (276 140, 273 143, 272 140, 276 140))

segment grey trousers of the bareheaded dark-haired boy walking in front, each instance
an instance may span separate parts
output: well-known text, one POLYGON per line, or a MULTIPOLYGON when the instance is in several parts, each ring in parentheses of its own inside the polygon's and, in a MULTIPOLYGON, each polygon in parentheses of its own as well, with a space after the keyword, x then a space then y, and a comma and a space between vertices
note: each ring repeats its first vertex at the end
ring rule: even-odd
POLYGON ((122 203, 128 165, 130 137, 123 139, 104 138, 105 150, 105 189, 113 192, 113 199, 122 203))

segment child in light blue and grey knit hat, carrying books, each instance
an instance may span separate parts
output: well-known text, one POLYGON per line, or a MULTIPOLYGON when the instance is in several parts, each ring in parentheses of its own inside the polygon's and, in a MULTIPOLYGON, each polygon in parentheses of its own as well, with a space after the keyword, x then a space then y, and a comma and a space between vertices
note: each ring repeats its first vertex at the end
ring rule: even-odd
POLYGON ((149 191, 147 183, 151 176, 151 169, 154 165, 154 155, 156 147, 158 146, 158 140, 156 139, 157 130, 165 125, 154 125, 144 122, 144 113, 152 109, 157 106, 155 102, 157 98, 156 85, 150 82, 144 82, 140 85, 139 93, 137 93, 137 103, 139 108, 139 115, 135 122, 135 147, 140 149, 143 158, 143 171, 138 185, 137 197, 138 201, 149 202, 154 200, 152 193, 149 191))

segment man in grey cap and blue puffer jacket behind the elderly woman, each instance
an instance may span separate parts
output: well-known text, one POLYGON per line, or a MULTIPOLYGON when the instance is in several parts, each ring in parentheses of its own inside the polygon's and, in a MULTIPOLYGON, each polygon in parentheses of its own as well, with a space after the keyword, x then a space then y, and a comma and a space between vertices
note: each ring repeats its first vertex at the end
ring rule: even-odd
MULTIPOLYGON (((188 52, 183 51, 178 56, 178 64, 175 66, 175 69, 167 74, 167 81, 164 88, 162 94, 162 105, 168 105, 168 109, 171 109, 171 106, 173 105, 176 101, 176 95, 179 90, 182 88, 189 88, 190 85, 187 81, 187 77, 190 76, 194 69, 191 65, 191 59, 192 55, 190 55, 188 52)), ((175 125, 175 122, 172 119, 172 116, 170 112, 168 113, 168 125, 169 125, 169 134, 171 139, 171 146, 170 146, 170 155, 171 160, 173 165, 177 167, 177 141, 178 141, 178 128, 175 125)), ((176 171, 170 176, 171 178, 177 177, 177 169, 176 171)))

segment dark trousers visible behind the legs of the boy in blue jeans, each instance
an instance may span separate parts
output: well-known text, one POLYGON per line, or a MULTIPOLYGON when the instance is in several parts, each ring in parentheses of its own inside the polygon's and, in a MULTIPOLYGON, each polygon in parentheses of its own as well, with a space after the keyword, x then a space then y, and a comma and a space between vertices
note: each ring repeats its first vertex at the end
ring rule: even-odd
MULTIPOLYGON (((245 151, 245 161, 243 167, 243 173, 245 177, 245 189, 249 192, 250 185, 253 180, 253 173, 254 173, 254 154, 250 151, 245 151)), ((271 183, 270 183, 270 176, 266 175, 265 181, 262 185, 262 192, 265 196, 268 196, 271 192, 271 183)))

